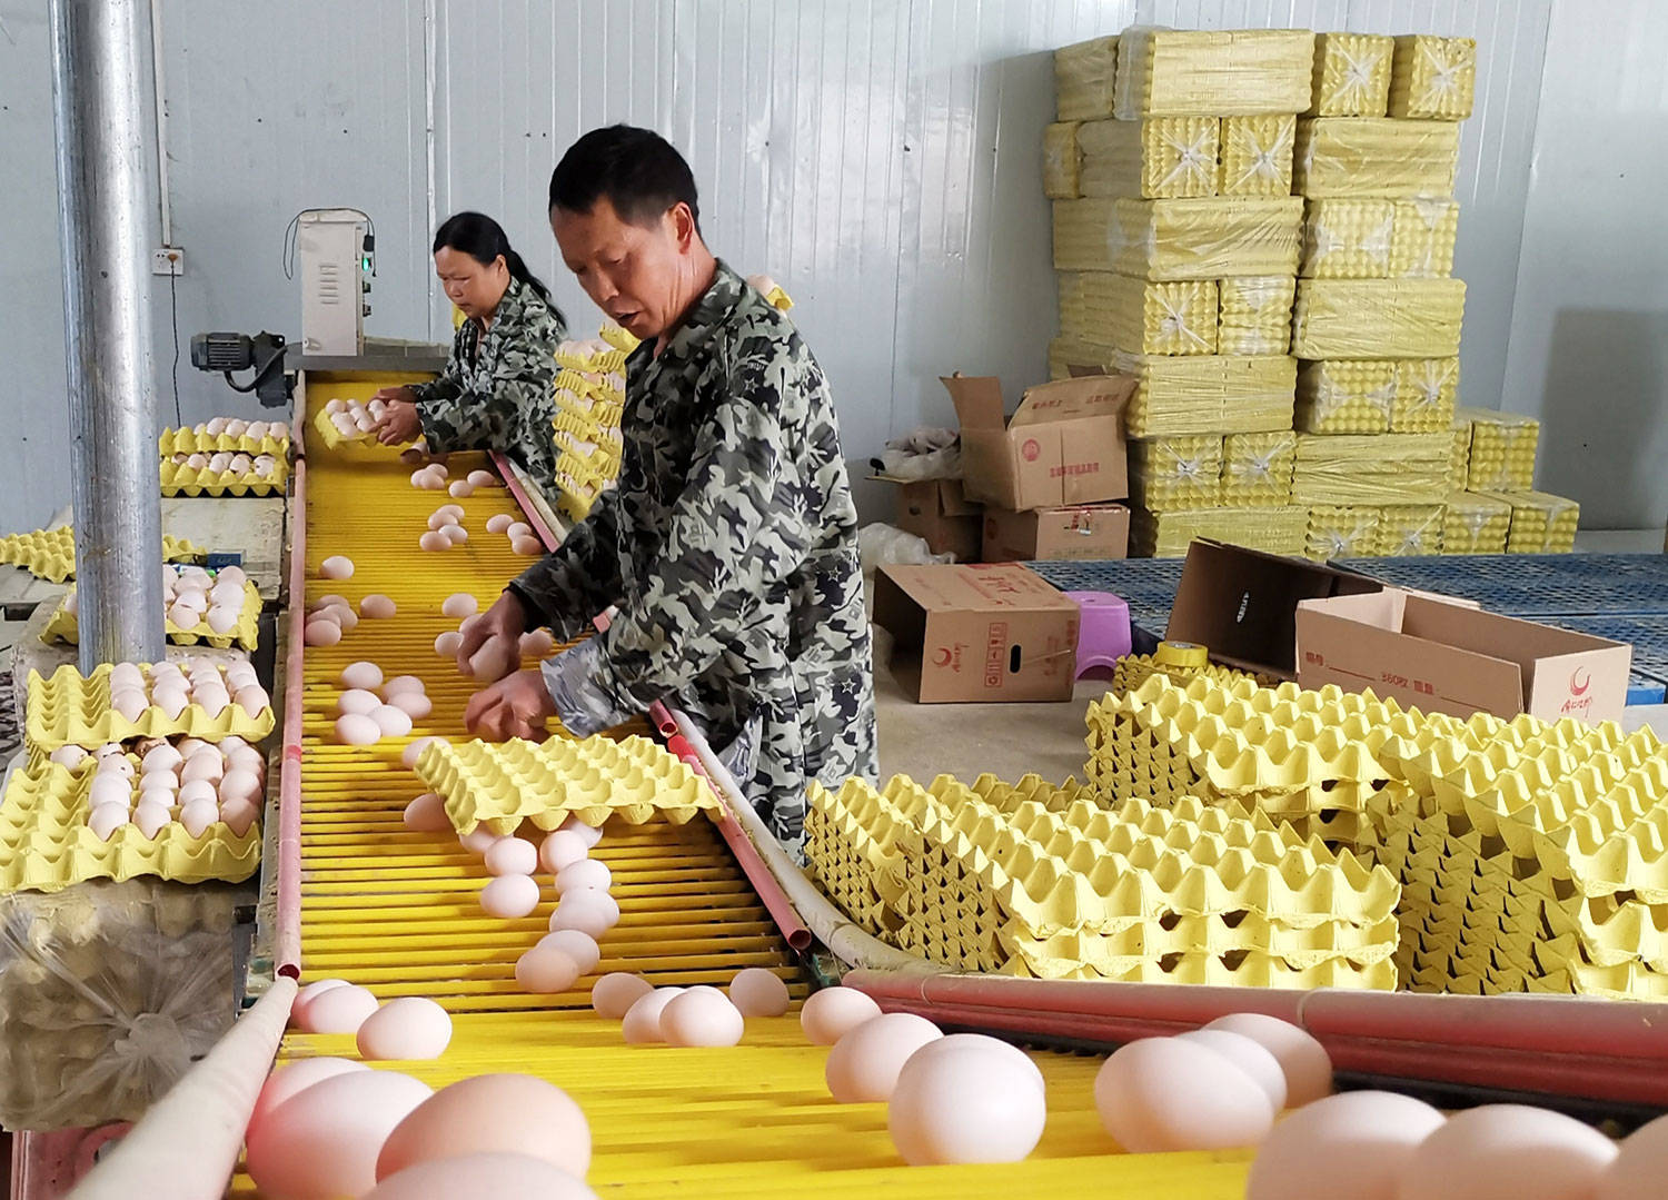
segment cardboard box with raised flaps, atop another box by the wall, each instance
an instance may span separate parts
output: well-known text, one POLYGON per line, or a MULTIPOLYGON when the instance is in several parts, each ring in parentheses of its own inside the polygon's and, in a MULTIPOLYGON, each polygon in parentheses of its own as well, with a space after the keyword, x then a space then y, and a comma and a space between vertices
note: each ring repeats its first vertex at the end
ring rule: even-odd
POLYGON ((992 376, 942 379, 961 419, 962 491, 1011 512, 1121 501, 1126 376, 1088 376, 1027 387, 1002 421, 1002 386, 992 376))

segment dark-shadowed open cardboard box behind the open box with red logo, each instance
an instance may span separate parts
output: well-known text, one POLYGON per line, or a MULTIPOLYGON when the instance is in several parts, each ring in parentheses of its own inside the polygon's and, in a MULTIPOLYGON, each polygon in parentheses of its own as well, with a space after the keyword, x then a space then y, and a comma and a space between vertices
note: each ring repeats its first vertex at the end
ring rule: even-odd
POLYGON ((1291 679, 1299 606, 1381 589, 1353 571, 1199 539, 1188 547, 1164 636, 1198 643, 1218 663, 1291 679))

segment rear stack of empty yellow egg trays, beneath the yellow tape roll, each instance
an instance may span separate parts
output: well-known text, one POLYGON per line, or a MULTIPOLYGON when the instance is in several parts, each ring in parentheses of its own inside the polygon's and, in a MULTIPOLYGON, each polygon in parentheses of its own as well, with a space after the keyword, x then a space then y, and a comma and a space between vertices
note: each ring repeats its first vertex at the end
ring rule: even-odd
POLYGON ((1419 716, 1334 686, 1151 676, 1088 714, 1088 779, 1104 803, 1181 796, 1261 809, 1329 845, 1363 845, 1368 799, 1389 773, 1374 751, 1419 716))

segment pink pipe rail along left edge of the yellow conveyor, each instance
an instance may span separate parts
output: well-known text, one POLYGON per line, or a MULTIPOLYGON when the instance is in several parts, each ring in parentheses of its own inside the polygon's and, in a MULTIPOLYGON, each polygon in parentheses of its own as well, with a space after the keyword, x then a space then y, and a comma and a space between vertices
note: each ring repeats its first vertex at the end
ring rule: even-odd
POLYGON ((302 651, 307 648, 307 461, 295 461, 290 608, 284 659, 284 758, 279 763, 279 911, 274 966, 302 976, 302 651))

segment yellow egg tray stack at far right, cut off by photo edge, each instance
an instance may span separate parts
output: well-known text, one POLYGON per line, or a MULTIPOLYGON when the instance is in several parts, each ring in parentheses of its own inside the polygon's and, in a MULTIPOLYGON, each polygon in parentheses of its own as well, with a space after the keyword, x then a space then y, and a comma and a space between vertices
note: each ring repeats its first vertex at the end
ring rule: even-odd
POLYGON ((1650 729, 1518 718, 1386 758, 1404 794, 1373 819, 1416 988, 1668 996, 1668 749, 1650 729))

